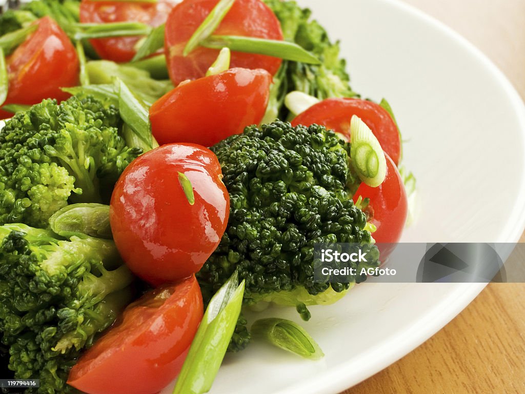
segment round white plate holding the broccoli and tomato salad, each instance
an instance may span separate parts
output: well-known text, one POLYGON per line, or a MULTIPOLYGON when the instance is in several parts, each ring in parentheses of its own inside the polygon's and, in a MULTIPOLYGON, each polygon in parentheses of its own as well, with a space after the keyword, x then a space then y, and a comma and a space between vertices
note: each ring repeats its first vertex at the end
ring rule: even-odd
MULTIPOLYGON (((402 3, 299 3, 341 39, 352 87, 386 97, 409 140, 404 164, 416 174, 421 215, 403 240, 516 242, 525 223, 525 110, 501 72, 465 39, 402 3)), ((340 392, 423 343, 483 287, 356 286, 335 305, 312 307, 303 324, 323 360, 253 343, 226 357, 211 393, 340 392)), ((267 315, 300 322, 289 309, 267 315)))

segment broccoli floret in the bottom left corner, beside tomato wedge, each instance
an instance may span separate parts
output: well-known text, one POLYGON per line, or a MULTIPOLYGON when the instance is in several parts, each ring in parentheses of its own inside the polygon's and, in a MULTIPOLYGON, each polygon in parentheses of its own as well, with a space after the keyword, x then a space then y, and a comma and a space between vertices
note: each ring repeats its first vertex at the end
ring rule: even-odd
POLYGON ((133 293, 113 241, 62 240, 24 224, 0 226, 0 338, 28 392, 67 393, 69 369, 133 293))

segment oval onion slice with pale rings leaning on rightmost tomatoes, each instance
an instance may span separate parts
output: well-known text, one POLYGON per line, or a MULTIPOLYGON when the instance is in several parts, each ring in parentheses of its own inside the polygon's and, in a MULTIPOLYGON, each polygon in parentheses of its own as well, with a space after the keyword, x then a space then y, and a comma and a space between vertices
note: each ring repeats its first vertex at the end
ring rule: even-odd
POLYGON ((385 180, 385 154, 372 130, 355 115, 350 121, 350 140, 350 156, 359 178, 376 188, 385 180))

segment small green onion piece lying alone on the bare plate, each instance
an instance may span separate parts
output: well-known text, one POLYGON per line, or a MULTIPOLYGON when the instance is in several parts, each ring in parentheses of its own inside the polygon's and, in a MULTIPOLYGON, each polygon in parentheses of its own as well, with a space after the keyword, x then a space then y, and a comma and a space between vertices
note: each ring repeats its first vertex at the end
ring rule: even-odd
POLYGON ((290 320, 278 318, 257 320, 251 326, 251 335, 310 360, 318 360, 324 356, 319 345, 306 330, 290 320))

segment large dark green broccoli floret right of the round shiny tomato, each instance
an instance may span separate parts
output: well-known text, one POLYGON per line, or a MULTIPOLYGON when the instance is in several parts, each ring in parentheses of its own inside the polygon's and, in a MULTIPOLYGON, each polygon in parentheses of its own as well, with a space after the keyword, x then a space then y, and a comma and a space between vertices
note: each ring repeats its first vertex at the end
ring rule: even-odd
MULTIPOLYGON (((373 242, 351 200, 359 180, 350 144, 322 126, 276 121, 250 126, 211 149, 222 165, 230 214, 217 250, 197 273, 204 299, 234 271, 246 281, 245 305, 293 305, 308 318, 306 305, 341 298, 352 284, 314 281, 313 257, 316 243, 373 242)), ((245 324, 239 320, 230 350, 246 346, 245 324)))

